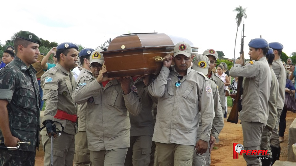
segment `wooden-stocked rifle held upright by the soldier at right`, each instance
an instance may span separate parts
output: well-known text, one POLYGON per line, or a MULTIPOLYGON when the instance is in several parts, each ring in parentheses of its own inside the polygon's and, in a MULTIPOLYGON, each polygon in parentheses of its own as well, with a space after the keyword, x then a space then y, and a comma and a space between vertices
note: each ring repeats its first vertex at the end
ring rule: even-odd
MULTIPOLYGON (((245 56, 244 56, 244 32, 245 32, 245 24, 243 24, 243 36, 241 38, 241 52, 240 54, 242 54, 242 59, 245 65, 245 56)), ((238 81, 237 81, 237 88, 236 88, 236 97, 233 101, 233 105, 232 105, 232 109, 229 113, 229 116, 227 118, 228 122, 231 123, 237 123, 238 122, 238 112, 239 110, 239 100, 241 99, 241 95, 243 94, 243 80, 244 77, 238 77, 238 81)))

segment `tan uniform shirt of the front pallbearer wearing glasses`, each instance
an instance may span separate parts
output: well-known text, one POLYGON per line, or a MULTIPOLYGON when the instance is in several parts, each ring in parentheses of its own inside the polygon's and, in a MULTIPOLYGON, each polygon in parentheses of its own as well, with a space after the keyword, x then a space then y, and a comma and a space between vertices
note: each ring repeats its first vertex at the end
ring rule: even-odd
POLYGON ((136 116, 142 110, 138 93, 134 91, 124 95, 119 81, 111 80, 103 88, 95 78, 75 89, 75 102, 87 103, 86 134, 89 150, 130 147, 129 113, 136 116))

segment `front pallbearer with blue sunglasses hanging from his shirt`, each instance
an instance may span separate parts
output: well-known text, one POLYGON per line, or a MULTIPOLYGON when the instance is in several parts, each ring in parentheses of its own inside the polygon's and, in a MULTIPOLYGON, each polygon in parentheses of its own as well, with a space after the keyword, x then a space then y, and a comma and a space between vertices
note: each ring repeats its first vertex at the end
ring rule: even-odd
POLYGON ((177 43, 174 55, 164 59, 158 77, 147 87, 149 93, 158 98, 152 138, 156 157, 160 166, 192 166, 195 150, 203 154, 208 149, 215 115, 212 88, 207 76, 191 69, 192 49, 186 42, 177 43), (175 65, 170 71, 173 61, 175 65), (197 141, 199 112, 202 124, 197 141))

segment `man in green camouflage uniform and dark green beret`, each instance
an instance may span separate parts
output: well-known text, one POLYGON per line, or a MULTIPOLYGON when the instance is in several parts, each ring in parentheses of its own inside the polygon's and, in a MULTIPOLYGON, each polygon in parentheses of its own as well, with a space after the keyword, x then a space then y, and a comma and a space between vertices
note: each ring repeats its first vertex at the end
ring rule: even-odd
POLYGON ((1 165, 34 165, 39 147, 39 86, 36 70, 41 40, 19 31, 14 39, 16 57, 0 71, 0 140, 6 147, 31 142, 18 150, 0 150, 1 165))

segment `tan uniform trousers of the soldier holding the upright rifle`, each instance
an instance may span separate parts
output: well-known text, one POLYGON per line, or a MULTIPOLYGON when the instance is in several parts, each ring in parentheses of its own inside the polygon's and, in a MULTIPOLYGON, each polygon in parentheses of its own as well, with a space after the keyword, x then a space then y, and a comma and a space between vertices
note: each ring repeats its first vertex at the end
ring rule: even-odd
MULTIPOLYGON (((265 124, 241 121, 241 127, 243 129, 244 150, 261 150, 261 136, 265 124)), ((261 166, 261 159, 257 159, 255 155, 246 156, 244 153, 244 159, 247 162, 247 166, 261 166)))

